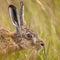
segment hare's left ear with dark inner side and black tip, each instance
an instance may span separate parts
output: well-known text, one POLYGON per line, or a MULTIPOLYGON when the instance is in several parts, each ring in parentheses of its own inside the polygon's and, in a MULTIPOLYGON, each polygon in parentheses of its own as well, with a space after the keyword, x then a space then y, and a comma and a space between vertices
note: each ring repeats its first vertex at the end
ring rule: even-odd
POLYGON ((17 18, 17 12, 16 12, 16 7, 14 5, 9 5, 9 14, 11 17, 11 20, 13 22, 13 25, 16 26, 17 32, 19 31, 19 22, 17 18))

